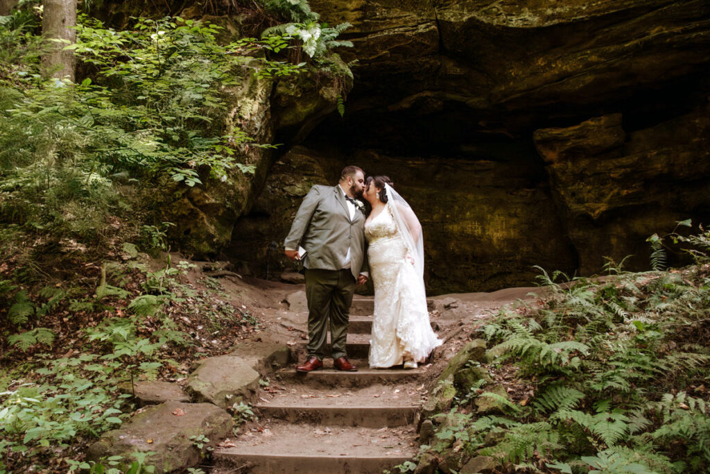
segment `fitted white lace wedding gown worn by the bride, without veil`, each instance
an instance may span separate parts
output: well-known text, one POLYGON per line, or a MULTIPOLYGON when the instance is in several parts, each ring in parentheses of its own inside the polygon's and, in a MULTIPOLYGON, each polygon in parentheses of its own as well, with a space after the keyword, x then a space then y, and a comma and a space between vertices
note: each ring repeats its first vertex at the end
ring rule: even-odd
POLYGON ((422 277, 405 259, 407 247, 387 204, 365 225, 375 286, 370 367, 391 367, 403 357, 423 362, 442 340, 432 330, 422 277))

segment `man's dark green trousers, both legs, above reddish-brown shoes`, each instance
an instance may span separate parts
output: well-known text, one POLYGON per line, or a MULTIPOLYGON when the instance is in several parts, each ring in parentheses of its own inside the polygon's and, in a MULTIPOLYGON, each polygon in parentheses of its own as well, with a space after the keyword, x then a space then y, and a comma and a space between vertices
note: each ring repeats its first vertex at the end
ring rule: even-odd
POLYGON ((306 298, 308 300, 308 357, 323 360, 325 341, 330 325, 331 355, 333 359, 347 357, 350 306, 355 291, 355 278, 348 270, 306 269, 306 298))

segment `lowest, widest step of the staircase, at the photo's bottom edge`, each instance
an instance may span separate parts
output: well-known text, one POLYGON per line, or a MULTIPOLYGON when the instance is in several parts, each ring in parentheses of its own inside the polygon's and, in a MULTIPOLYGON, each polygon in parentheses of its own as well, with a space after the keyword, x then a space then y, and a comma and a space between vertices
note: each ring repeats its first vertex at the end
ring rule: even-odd
MULTIPOLYGON (((382 473, 417 453, 413 427, 373 429, 268 424, 248 430, 213 458, 249 473, 382 473)), ((225 470, 226 472, 226 470, 225 470)))

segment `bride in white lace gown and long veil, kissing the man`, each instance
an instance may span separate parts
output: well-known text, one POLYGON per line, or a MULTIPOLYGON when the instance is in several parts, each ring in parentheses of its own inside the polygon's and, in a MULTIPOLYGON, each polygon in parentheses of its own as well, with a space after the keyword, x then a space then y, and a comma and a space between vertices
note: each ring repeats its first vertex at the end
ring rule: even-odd
POLYGON ((427 311, 422 226, 387 176, 368 177, 363 197, 372 206, 365 222, 375 286, 370 367, 415 369, 442 344, 427 311))

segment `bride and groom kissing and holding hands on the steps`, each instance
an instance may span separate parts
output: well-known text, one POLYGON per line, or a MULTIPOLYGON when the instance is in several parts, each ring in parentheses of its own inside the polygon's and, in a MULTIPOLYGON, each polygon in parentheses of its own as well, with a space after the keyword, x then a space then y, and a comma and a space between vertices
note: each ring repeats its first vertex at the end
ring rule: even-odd
POLYGON ((308 301, 307 360, 298 372, 323 367, 330 327, 338 370, 355 371, 346 338, 355 286, 372 274, 375 311, 369 366, 415 369, 442 344, 431 328, 424 287, 422 226, 387 176, 346 166, 337 185, 314 185, 303 198, 284 242, 302 259, 308 301), (364 198, 371 211, 366 212, 364 198))

